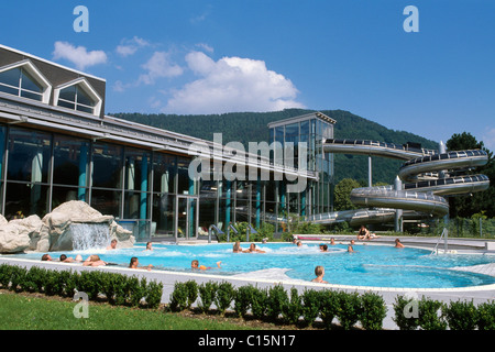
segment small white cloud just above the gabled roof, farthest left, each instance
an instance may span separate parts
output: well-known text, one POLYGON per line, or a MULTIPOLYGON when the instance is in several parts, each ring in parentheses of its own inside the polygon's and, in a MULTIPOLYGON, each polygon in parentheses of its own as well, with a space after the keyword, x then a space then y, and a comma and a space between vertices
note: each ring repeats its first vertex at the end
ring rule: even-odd
POLYGON ((107 54, 103 51, 88 52, 84 46, 74 46, 67 42, 55 42, 53 59, 65 58, 76 65, 77 69, 107 63, 107 54))

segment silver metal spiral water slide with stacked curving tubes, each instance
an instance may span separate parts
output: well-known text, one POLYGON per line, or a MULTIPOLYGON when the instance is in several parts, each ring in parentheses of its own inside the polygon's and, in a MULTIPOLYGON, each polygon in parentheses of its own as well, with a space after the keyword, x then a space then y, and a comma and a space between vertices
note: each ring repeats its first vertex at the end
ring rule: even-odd
POLYGON ((419 213, 442 217, 449 212, 449 204, 442 196, 483 191, 490 186, 485 175, 458 176, 459 173, 487 163, 488 155, 481 150, 438 153, 410 145, 336 139, 326 140, 323 150, 326 153, 391 157, 405 163, 398 170, 395 185, 352 190, 353 204, 381 209, 317 215, 310 219, 315 222, 388 222, 394 219, 395 209, 408 210, 404 212, 404 218, 417 218, 419 213))

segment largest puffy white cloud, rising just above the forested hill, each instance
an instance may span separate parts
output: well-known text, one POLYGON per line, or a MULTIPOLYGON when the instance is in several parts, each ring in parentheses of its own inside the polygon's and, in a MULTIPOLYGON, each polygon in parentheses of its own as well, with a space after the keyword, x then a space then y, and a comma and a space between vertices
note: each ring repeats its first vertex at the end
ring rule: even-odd
POLYGON ((293 82, 268 70, 263 61, 223 57, 215 62, 201 52, 191 52, 186 62, 200 78, 174 91, 165 112, 222 113, 304 108, 295 100, 298 90, 293 82))

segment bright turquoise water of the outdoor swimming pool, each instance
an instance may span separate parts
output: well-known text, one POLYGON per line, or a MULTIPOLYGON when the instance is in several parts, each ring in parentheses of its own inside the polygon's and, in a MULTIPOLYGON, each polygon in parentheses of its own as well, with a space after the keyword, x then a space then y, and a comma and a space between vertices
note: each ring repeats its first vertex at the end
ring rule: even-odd
MULTIPOLYGON (((257 244, 266 253, 233 253, 232 243, 209 245, 153 244, 153 251, 144 251, 144 243, 133 249, 91 250, 66 253, 68 256, 98 254, 103 261, 128 266, 138 256, 141 266, 153 264, 155 270, 191 272, 190 262, 211 270, 200 273, 238 275, 251 278, 311 280, 315 267, 324 267, 324 279, 331 284, 373 287, 452 288, 495 284, 495 277, 453 271, 455 266, 495 263, 494 255, 441 254, 430 255, 428 250, 395 249, 392 245, 354 245, 354 253, 346 252, 346 244, 329 245, 329 252, 320 252, 319 243, 298 248, 290 243, 257 244), (221 268, 217 262, 221 261, 221 268)), ((243 243, 242 248, 248 249, 243 243)), ((34 253, 24 254, 32 257, 34 253)), ((59 253, 51 253, 58 257, 59 253)), ((35 257, 41 257, 40 253, 35 257)))

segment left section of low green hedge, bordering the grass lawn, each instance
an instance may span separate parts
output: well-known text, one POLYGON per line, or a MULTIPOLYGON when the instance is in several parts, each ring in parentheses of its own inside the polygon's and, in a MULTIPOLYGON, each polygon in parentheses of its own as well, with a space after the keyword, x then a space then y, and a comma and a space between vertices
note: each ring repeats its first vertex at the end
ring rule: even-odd
POLYGON ((157 308, 163 284, 101 271, 51 271, 42 267, 1 264, 0 286, 13 292, 74 297, 84 292, 90 300, 107 299, 112 305, 157 308), (142 302, 144 300, 144 302, 142 302))

